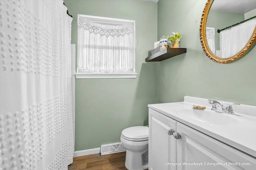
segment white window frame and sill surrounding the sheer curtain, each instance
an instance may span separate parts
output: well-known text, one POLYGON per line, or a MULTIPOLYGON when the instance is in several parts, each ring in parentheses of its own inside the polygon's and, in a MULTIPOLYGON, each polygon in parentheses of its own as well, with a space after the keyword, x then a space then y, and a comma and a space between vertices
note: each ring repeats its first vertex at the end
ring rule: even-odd
MULTIPOLYGON (((135 21, 134 20, 123 20, 123 19, 117 19, 117 18, 106 18, 106 17, 99 17, 99 16, 88 16, 88 15, 82 15, 78 14, 79 16, 90 18, 90 20, 100 23, 100 24, 106 24, 106 25, 120 25, 124 23, 134 23, 134 34, 136 36, 135 32, 135 21)), ((136 38, 134 38, 134 45, 136 44, 136 38)), ((86 70, 79 69, 77 67, 76 69, 76 78, 136 78, 137 74, 135 72, 135 47, 134 47, 134 69, 132 72, 121 72, 121 73, 92 73, 88 72, 86 70)))

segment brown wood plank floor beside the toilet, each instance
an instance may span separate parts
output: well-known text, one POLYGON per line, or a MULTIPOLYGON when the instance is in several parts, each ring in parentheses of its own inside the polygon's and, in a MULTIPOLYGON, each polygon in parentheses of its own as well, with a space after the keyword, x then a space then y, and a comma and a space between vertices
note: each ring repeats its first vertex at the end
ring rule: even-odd
POLYGON ((75 157, 68 170, 127 170, 124 166, 125 154, 126 152, 119 152, 75 157))

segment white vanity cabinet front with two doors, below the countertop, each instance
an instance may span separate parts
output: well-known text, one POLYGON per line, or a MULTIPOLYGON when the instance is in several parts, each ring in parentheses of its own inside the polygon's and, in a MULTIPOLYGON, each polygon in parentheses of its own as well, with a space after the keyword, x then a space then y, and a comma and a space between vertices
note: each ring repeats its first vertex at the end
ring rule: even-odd
POLYGON ((256 170, 256 158, 150 108, 148 159, 149 170, 256 170))

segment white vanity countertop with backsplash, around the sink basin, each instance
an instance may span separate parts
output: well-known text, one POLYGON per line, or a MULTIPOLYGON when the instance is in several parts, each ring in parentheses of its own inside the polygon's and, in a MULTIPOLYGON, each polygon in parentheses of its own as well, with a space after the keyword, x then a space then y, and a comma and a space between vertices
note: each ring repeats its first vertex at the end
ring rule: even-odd
MULTIPOLYGON (((239 123, 232 125, 216 125, 201 122, 175 112, 175 109, 178 107, 192 108, 193 104, 206 106, 205 110, 211 110, 212 105, 208 104, 208 102, 207 99, 185 96, 184 102, 149 104, 148 107, 256 157, 256 106, 234 105, 234 115, 216 112, 216 114, 225 114, 239 121, 239 123)), ((224 104, 224 106, 230 104, 229 102, 218 102, 224 104)))

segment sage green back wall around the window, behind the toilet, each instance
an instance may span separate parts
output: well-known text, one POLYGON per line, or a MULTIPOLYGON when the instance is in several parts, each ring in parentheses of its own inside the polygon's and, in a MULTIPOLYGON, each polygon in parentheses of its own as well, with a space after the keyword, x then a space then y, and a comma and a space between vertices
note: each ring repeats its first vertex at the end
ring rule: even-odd
POLYGON ((123 129, 148 125, 148 104, 156 103, 157 64, 145 63, 157 40, 157 4, 142 0, 65 0, 77 15, 136 20, 136 79, 76 79, 75 150, 120 142, 123 129))

